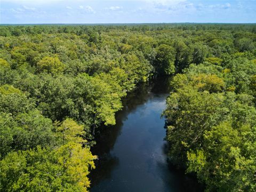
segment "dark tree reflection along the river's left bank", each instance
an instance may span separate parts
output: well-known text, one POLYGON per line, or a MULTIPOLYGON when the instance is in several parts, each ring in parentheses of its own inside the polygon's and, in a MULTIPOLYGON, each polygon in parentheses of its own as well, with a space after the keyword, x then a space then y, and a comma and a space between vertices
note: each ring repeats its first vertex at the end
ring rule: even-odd
POLYGON ((169 81, 165 79, 157 79, 150 83, 143 83, 127 94, 123 99, 123 109, 116 113, 115 126, 101 126, 95 132, 95 141, 97 144, 92 147, 93 155, 98 155, 99 159, 96 164, 96 169, 90 173, 91 186, 97 185, 99 181, 109 178, 111 171, 118 165, 119 159, 110 154, 113 149, 116 139, 121 132, 123 122, 127 116, 132 113, 139 105, 145 103, 150 97, 153 97, 150 92, 166 93, 166 86, 169 81))

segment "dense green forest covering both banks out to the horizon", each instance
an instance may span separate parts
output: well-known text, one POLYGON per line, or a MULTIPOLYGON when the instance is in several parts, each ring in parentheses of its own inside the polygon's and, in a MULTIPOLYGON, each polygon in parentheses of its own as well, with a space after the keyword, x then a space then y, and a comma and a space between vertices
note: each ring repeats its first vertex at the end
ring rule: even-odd
POLYGON ((94 133, 172 75, 170 162, 206 191, 256 190, 256 25, 0 26, 0 47, 1 191, 89 190, 94 133))

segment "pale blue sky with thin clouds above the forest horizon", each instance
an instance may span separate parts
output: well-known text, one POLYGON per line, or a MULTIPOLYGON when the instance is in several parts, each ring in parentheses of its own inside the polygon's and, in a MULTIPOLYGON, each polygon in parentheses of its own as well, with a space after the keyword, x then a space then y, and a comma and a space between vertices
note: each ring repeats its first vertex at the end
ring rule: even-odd
POLYGON ((1 24, 256 23, 256 0, 0 0, 0 12, 1 24))

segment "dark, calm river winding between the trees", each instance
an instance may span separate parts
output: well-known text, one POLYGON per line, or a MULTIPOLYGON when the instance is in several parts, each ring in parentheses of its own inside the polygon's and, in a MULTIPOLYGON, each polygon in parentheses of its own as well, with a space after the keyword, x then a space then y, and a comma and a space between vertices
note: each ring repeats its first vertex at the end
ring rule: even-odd
POLYGON ((116 125, 96 134, 92 150, 99 161, 90 175, 90 191, 202 191, 195 178, 166 161, 161 114, 170 93, 167 82, 139 86, 123 101, 116 125))

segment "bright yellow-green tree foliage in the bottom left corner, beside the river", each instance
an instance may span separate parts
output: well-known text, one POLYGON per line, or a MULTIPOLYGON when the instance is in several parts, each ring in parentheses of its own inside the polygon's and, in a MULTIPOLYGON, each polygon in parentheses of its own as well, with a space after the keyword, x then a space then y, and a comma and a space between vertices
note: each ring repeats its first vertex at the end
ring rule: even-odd
POLYGON ((15 151, 0 162, 1 191, 88 191, 94 169, 90 148, 68 142, 59 148, 15 151))

